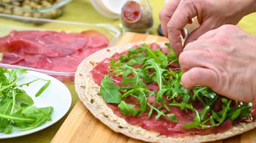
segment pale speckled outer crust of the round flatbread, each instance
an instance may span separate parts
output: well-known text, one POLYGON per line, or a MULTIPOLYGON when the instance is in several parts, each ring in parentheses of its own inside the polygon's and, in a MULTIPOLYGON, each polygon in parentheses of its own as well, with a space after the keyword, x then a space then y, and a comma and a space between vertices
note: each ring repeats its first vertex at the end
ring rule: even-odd
MULTIPOLYGON (((241 134, 256 127, 256 122, 239 123, 232 126, 231 129, 223 133, 208 134, 208 135, 189 135, 181 137, 168 137, 157 132, 145 130, 139 126, 131 125, 123 118, 118 117, 113 113, 101 95, 99 95, 100 86, 98 86, 90 73, 99 62, 106 57, 111 57, 114 53, 124 52, 134 45, 152 42, 137 42, 129 43, 121 46, 113 46, 95 52, 85 58, 77 67, 75 73, 75 90, 94 117, 98 118, 102 123, 106 124, 115 132, 122 133, 134 139, 143 140, 146 142, 172 142, 172 143, 192 143, 192 142, 207 142, 225 139, 234 135, 241 134)), ((164 42, 157 42, 160 47, 164 47, 164 42)))

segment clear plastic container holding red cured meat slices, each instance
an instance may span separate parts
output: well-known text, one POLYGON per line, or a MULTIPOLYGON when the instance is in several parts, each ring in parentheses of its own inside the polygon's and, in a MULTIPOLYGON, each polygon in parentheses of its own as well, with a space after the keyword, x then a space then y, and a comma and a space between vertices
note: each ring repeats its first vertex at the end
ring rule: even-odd
POLYGON ((112 46, 119 36, 120 31, 109 24, 0 14, 0 66, 26 68, 73 83, 80 62, 112 46))

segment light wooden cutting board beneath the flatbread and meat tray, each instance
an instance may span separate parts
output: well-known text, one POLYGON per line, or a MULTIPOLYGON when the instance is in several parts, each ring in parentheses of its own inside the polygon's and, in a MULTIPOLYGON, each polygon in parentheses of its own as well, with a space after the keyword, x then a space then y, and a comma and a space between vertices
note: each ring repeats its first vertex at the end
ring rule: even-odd
MULTIPOLYGON (((138 34, 132 32, 124 33, 116 45, 122 45, 138 41, 168 41, 165 37, 138 34)), ((123 134, 112 131, 108 126, 101 123, 79 100, 70 112, 61 128, 55 134, 52 143, 143 143, 123 134)), ((212 143, 253 143, 256 142, 256 128, 242 135, 230 137, 212 143)))

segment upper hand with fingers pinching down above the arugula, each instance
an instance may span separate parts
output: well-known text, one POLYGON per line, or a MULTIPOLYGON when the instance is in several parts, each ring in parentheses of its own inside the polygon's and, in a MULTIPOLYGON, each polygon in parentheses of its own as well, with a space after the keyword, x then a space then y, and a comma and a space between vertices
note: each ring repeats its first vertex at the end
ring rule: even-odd
POLYGON ((183 50, 183 28, 197 16, 199 28, 185 40, 184 46, 205 32, 224 24, 237 24, 245 15, 256 11, 256 0, 170 0, 159 12, 164 35, 169 39, 176 56, 183 50))

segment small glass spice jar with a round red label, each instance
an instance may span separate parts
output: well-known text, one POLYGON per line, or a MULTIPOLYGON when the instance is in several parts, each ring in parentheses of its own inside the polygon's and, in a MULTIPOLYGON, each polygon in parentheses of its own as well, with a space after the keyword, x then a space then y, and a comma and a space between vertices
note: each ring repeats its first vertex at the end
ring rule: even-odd
POLYGON ((141 0, 140 3, 127 1, 122 7, 119 26, 122 32, 148 34, 153 26, 152 8, 148 0, 141 0))

